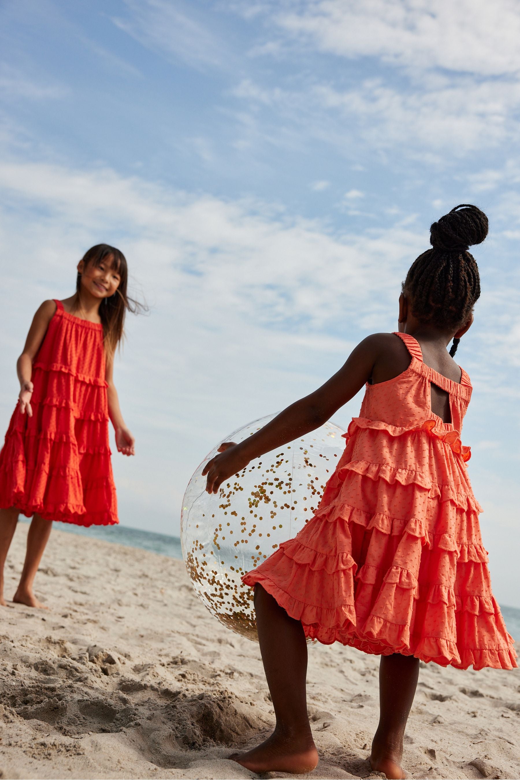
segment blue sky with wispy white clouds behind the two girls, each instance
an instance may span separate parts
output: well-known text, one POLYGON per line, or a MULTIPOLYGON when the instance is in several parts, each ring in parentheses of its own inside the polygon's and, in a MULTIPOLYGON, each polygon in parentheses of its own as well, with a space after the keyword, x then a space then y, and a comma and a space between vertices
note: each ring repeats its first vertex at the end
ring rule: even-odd
POLYGON ((179 534, 206 453, 396 330, 431 222, 475 203, 462 441, 520 607, 519 38, 514 0, 2 0, 0 422, 34 311, 118 246, 149 307, 115 367, 120 520, 179 534))

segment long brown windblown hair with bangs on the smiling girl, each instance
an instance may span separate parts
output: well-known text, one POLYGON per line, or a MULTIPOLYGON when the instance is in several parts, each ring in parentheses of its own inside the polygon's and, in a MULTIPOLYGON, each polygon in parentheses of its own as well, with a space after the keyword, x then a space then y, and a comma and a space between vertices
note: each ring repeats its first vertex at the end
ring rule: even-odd
MULTIPOLYGON (((101 324, 103 325, 103 341, 104 348, 108 355, 113 355, 115 349, 120 344, 123 336, 125 335, 125 315, 126 310, 131 311, 133 314, 137 314, 140 311, 146 310, 146 305, 139 303, 139 301, 129 298, 126 288, 128 285, 128 265, 126 264, 126 257, 115 246, 109 246, 109 244, 96 244, 91 246, 83 255, 84 268, 88 268, 89 265, 100 265, 108 257, 113 257, 113 263, 115 270, 119 274, 120 282, 119 287, 115 293, 108 298, 104 298, 99 307, 99 316, 101 317, 101 324)), ((81 274, 78 273, 76 279, 76 303, 80 300, 81 289, 81 274)))

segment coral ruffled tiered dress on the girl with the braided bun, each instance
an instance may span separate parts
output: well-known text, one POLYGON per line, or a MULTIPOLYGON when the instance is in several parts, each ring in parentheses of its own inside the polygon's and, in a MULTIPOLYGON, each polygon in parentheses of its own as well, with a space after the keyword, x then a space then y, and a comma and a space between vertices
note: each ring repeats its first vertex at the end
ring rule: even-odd
POLYGON ((260 583, 306 636, 442 666, 511 669, 514 643, 490 587, 459 438, 472 386, 423 363, 366 385, 360 417, 313 519, 242 579, 260 583), (451 423, 431 410, 449 393, 451 423))

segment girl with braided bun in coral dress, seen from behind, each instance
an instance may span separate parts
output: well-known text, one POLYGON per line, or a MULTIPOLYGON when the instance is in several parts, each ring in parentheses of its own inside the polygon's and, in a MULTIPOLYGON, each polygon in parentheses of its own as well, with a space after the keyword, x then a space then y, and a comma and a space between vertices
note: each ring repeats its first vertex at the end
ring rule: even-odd
POLYGON ((360 417, 313 519, 242 579, 254 587, 260 650, 277 723, 236 761, 256 771, 310 771, 306 637, 381 656, 380 722, 370 763, 401 778, 419 659, 455 668, 516 666, 493 598, 469 484, 462 418, 472 386, 452 360, 472 324, 487 235, 475 206, 431 226, 433 249, 409 269, 399 332, 364 339, 322 388, 207 464, 207 490, 250 459, 323 424, 366 383, 360 417), (447 345, 453 339, 450 353, 447 345))

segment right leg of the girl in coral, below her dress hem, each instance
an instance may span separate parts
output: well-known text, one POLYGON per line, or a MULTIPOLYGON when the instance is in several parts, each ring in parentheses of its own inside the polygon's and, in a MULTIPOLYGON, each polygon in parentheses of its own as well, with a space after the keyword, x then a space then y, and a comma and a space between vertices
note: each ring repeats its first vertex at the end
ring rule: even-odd
POLYGON ((405 778, 401 769, 406 721, 419 678, 419 658, 412 655, 381 656, 379 667, 380 717, 373 738, 370 766, 387 778, 405 778))

